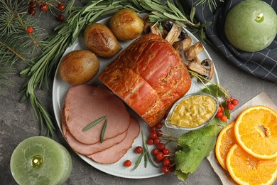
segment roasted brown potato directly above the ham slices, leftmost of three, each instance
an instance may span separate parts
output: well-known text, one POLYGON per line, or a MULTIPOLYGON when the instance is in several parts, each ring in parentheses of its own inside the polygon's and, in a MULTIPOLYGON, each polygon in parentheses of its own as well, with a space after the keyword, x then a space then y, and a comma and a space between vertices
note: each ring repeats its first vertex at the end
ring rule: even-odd
POLYGON ((71 85, 87 83, 99 71, 97 56, 88 50, 75 50, 65 55, 59 66, 60 76, 71 85))

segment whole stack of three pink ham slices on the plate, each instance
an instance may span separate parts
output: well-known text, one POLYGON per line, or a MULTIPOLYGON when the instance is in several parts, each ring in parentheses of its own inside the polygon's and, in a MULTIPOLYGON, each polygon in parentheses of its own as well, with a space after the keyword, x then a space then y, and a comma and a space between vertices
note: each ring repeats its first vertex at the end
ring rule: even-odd
POLYGON ((62 121, 63 134, 70 147, 102 164, 121 159, 140 132, 139 122, 130 117, 124 102, 102 86, 84 84, 70 88, 65 97, 62 121), (106 116, 107 127, 104 141, 100 142, 104 120, 87 131, 83 129, 103 116, 106 116))

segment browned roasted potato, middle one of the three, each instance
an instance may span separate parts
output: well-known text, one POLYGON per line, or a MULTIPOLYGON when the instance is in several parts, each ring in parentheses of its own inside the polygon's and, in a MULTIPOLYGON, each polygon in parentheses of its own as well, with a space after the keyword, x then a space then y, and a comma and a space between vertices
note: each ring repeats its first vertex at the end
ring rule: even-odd
POLYGON ((97 56, 110 58, 121 51, 114 33, 102 23, 92 23, 84 32, 85 45, 97 56))

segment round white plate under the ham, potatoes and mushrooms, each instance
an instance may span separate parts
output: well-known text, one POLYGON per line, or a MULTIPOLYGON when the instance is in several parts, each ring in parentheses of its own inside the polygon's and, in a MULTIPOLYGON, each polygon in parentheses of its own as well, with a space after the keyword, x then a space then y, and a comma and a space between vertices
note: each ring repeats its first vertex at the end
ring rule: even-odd
MULTIPOLYGON (((109 18, 105 18, 99 22, 108 25, 109 18)), ((198 41, 197 38, 195 36, 193 36, 192 33, 190 33, 189 31, 188 31, 188 35, 192 38, 192 44, 196 43, 198 41)), ((121 42, 120 44, 121 44, 122 48, 124 49, 124 48, 126 48, 126 46, 129 46, 129 44, 131 42, 132 41, 126 41, 126 42, 121 42)), ((87 47, 85 46, 85 42, 84 42, 84 38, 83 38, 82 34, 80 34, 80 36, 77 38, 75 43, 73 43, 72 46, 70 46, 70 48, 67 48, 67 50, 64 53, 64 56, 65 56, 65 54, 69 53, 70 51, 78 50, 78 49, 87 49, 87 47)), ((123 49, 121 51, 123 51, 123 49)), ((113 58, 99 58, 99 60, 100 60, 99 73, 101 73, 102 70, 104 70, 104 68, 109 63, 111 63, 113 60, 115 60, 115 58, 118 55, 119 54, 117 54, 113 58)), ((198 57, 200 58, 201 61, 206 58, 210 58, 210 56, 206 50, 204 50, 200 54, 198 54, 198 57)), ((91 81, 89 81, 88 84, 102 85, 102 83, 100 83, 99 80, 97 80, 99 73, 97 73, 97 76, 95 76, 91 81)), ((212 81, 214 83, 219 83, 216 70, 214 70, 214 76, 212 78, 212 81)), ((55 118, 58 122, 58 127, 60 129, 60 132, 62 132, 62 134, 63 134, 63 131, 61 129, 61 110, 62 110, 64 102, 65 102, 65 96, 67 95, 67 91, 71 87, 72 87, 71 85, 69 85, 69 84, 65 83, 65 81, 63 81, 63 79, 60 77, 60 74, 58 73, 58 70, 56 70, 55 78, 54 78, 54 82, 53 82, 53 109, 54 109, 54 113, 55 113, 55 118)), ((201 83, 197 83, 196 78, 194 78, 192 80, 192 86, 191 86, 189 92, 187 93, 187 95, 189 93, 195 93, 202 88, 204 88, 204 86, 201 83)), ((132 110, 129 109, 129 112, 130 112, 131 116, 135 117, 136 120, 139 121, 139 123, 141 125, 141 130, 143 131, 143 134, 144 134, 144 137, 145 137, 145 139, 147 139, 147 137, 149 135, 149 130, 150 130, 148 125, 146 124, 146 122, 143 122, 143 120, 141 120, 141 118, 138 115, 136 115, 132 110)), ((168 129, 168 130, 169 130, 170 134, 172 134, 174 136, 180 136, 181 134, 184 133, 184 131, 180 131, 177 129, 168 129)), ((166 132, 166 131, 164 130, 164 132, 166 132)), ((122 157, 119 160, 119 162, 116 162, 115 164, 98 164, 98 163, 92 161, 92 159, 85 157, 84 155, 81 155, 81 154, 78 154, 78 155, 83 160, 85 160, 85 162, 87 162, 94 168, 99 169, 100 171, 104 171, 105 173, 111 174, 114 176, 120 176, 120 177, 130 178, 130 179, 144 179, 144 178, 162 175, 163 172, 161 171, 161 168, 153 167, 153 166, 151 166, 151 164, 149 162, 148 162, 147 167, 145 168, 143 159, 141 161, 141 164, 138 166, 138 168, 135 170, 132 170, 136 160, 139 158, 139 154, 136 154, 134 152, 134 149, 137 146, 142 146, 141 134, 139 134, 139 137, 135 139, 135 141, 132 145, 132 148, 129 149, 129 151, 124 155, 124 157, 122 157), (132 166, 129 168, 124 166, 124 162, 126 161, 126 159, 129 159, 132 162, 132 166)), ((174 142, 171 142, 170 144, 167 145, 167 147, 172 149, 172 151, 175 146, 176 145, 174 144, 174 142)), ((149 151, 151 151, 153 149, 153 146, 148 146, 148 149, 149 149, 149 151)))

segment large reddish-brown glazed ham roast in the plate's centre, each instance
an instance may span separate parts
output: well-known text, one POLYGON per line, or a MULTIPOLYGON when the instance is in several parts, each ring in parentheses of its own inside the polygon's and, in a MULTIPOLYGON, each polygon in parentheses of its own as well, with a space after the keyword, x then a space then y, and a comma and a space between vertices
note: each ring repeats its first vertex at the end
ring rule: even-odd
POLYGON ((191 85, 178 52, 155 34, 137 38, 103 70, 99 80, 151 127, 191 85))

